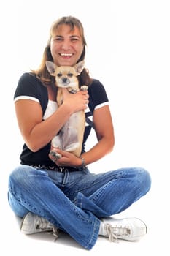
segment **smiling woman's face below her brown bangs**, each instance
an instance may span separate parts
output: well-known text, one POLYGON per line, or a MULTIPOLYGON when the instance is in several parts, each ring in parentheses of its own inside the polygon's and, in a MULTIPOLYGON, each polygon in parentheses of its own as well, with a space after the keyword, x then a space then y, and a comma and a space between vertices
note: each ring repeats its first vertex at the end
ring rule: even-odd
POLYGON ((57 66, 74 66, 82 54, 84 45, 77 26, 70 30, 69 25, 61 25, 53 33, 50 50, 57 66))

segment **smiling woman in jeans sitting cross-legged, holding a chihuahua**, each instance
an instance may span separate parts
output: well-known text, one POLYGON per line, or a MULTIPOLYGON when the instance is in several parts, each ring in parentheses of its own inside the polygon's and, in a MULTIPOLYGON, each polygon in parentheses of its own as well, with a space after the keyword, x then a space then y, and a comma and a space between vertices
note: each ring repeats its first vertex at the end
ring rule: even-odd
POLYGON ((144 196, 151 181, 147 170, 139 167, 98 174, 88 170, 87 165, 109 154, 115 143, 104 86, 90 78, 84 68, 79 82, 80 86, 87 85, 88 90, 70 94, 63 89, 63 104, 58 107, 55 78, 46 67, 46 61, 57 66, 74 66, 85 59, 85 47, 80 20, 63 17, 50 29, 39 69, 21 76, 14 98, 25 143, 20 154, 21 165, 9 176, 8 197, 12 210, 23 218, 23 233, 62 230, 85 249, 91 249, 98 236, 109 237, 110 241, 117 238, 135 241, 147 233, 140 219, 110 216, 144 196), (85 110, 87 123, 82 154, 75 157, 52 148, 51 140, 72 113, 80 110, 85 110), (93 128, 98 142, 86 152, 85 141, 93 128), (62 157, 56 158, 50 149, 62 157))

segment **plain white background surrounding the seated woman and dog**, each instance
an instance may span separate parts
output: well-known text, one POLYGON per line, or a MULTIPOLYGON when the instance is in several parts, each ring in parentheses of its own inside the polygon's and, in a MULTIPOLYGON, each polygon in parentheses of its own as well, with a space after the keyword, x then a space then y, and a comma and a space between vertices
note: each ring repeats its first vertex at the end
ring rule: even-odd
MULTIPOLYGON (((1 10, 1 250, 4 255, 169 255, 169 1, 5 1, 1 10), (23 72, 39 66, 51 23, 63 15, 82 21, 88 42, 86 67, 101 80, 115 126, 112 154, 90 165, 100 172, 142 166, 152 188, 118 217, 139 217, 148 233, 141 241, 112 244, 98 238, 91 251, 69 236, 56 243, 44 235, 20 233, 7 203, 9 173, 19 164, 23 145, 13 94, 23 72)), ((87 147, 96 143, 91 136, 87 147)))

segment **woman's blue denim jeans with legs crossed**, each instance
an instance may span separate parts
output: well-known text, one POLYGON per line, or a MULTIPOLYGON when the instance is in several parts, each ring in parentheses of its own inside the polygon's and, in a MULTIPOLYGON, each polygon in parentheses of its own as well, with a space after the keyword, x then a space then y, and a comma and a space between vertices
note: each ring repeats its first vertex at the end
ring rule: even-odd
POLYGON ((60 173, 21 165, 9 176, 8 199, 19 217, 31 211, 91 249, 100 219, 131 206, 150 184, 150 174, 139 167, 96 174, 88 168, 60 173))

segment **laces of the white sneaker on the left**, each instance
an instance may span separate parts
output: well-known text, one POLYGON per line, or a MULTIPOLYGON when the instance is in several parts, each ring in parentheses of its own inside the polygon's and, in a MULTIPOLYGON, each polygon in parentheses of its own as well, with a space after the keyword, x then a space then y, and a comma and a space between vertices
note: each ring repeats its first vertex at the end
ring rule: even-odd
POLYGON ((36 223, 36 229, 40 230, 49 230, 47 233, 52 233, 53 236, 55 237, 55 241, 58 239, 58 233, 59 230, 57 227, 55 227, 53 224, 47 221, 47 219, 44 219, 40 217, 36 223))

